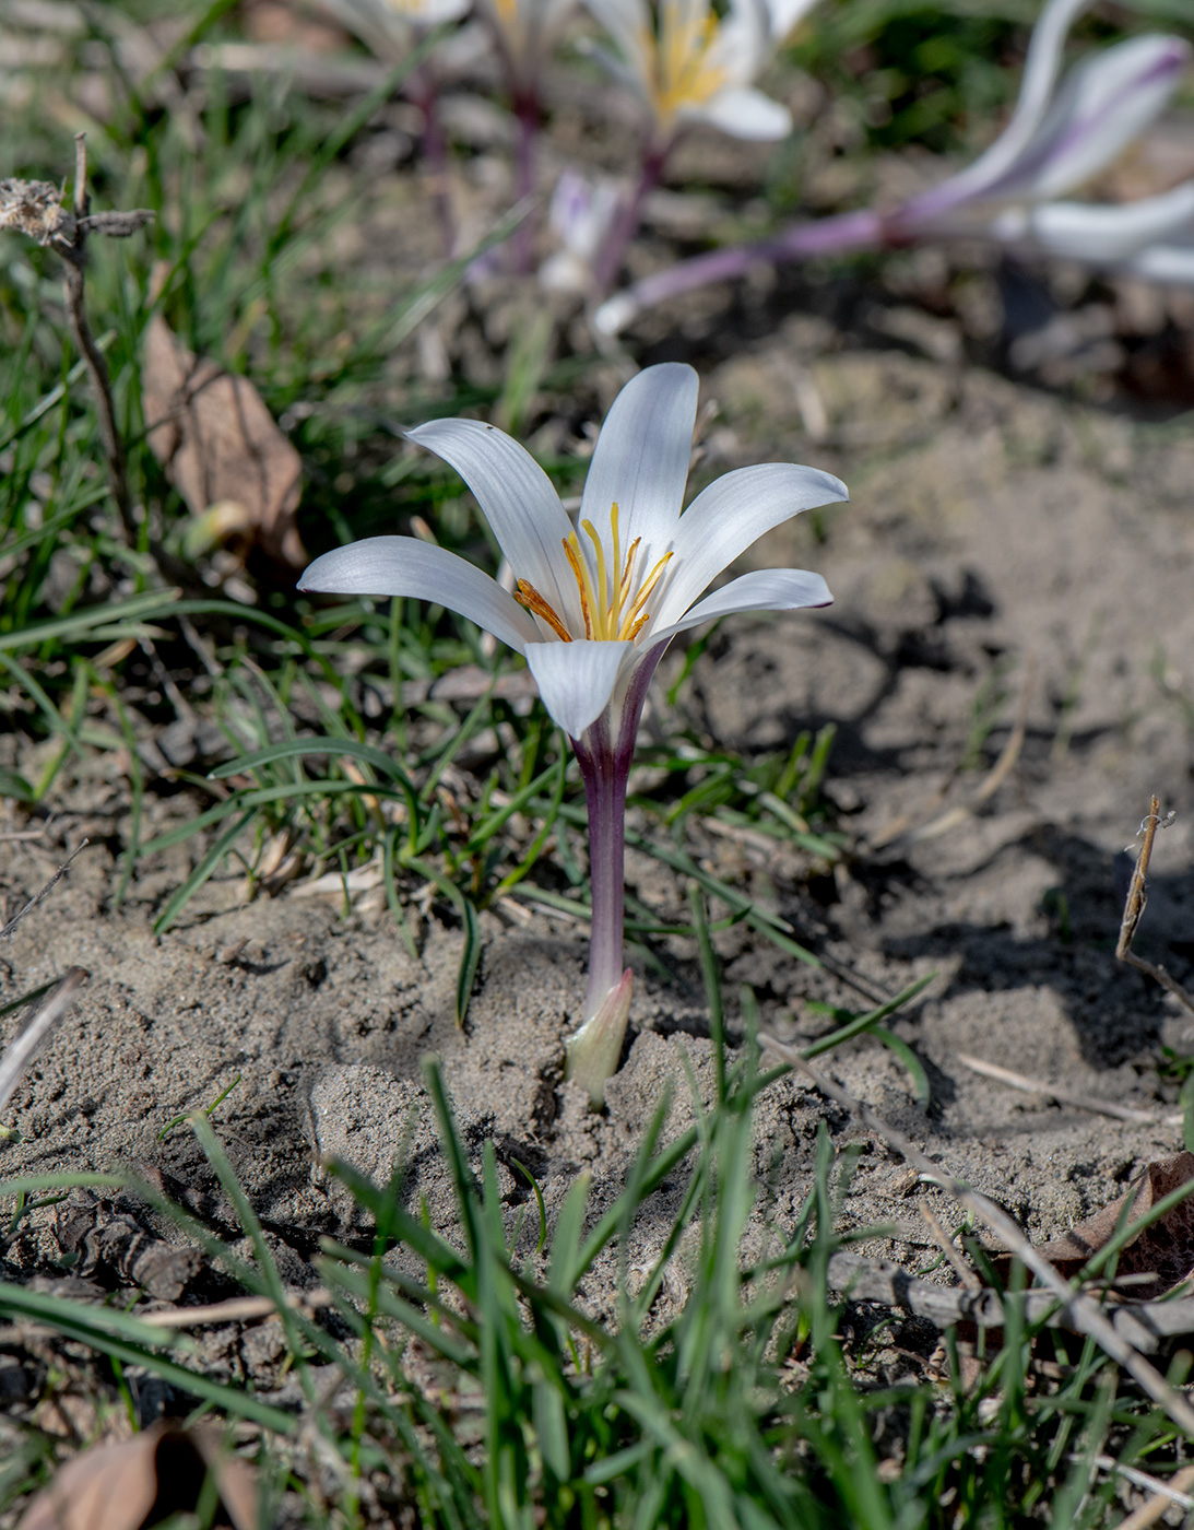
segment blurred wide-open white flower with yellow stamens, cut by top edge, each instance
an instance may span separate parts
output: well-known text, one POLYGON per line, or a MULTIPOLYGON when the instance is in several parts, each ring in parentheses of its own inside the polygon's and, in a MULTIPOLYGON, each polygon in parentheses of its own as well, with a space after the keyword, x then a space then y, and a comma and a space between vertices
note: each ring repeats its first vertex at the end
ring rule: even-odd
POLYGON ((688 121, 763 141, 792 132, 787 109, 752 84, 812 0, 729 0, 722 17, 711 0, 586 5, 618 44, 618 57, 599 57, 645 103, 662 141, 688 121))

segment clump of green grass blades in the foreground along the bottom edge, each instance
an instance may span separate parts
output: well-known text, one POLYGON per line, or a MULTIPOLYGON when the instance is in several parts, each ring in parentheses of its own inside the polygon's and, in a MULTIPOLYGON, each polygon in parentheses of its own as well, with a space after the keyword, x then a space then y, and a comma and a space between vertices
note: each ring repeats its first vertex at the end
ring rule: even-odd
MULTIPOLYGON (((326 1244, 316 1261, 330 1317, 284 1290, 211 1121, 194 1117, 251 1255, 141 1193, 238 1285, 269 1299, 297 1382, 289 1405, 205 1375, 190 1359, 185 1308, 171 1333, 119 1304, 3 1284, 0 1313, 107 1357, 116 1374, 142 1368, 193 1417, 214 1412, 249 1441, 242 1449, 292 1524, 1113 1522, 1118 1472, 1173 1460, 1173 1429, 1122 1388, 1093 1345, 1067 1348, 1064 1336, 1024 1323, 1014 1294, 1023 1274, 1012 1278, 1001 1342, 985 1348, 980 1334, 963 1359, 969 1346, 948 1331, 936 1379, 914 1354, 900 1362, 907 1340, 890 1316, 830 1296, 856 1146, 835 1149, 822 1126, 790 1235, 761 1259, 743 1258, 752 1210, 767 1193, 755 1177, 752 1106, 784 1071, 760 1071, 749 1042, 729 1059, 712 1108, 667 1146, 660 1102, 608 1209, 589 1207, 581 1177, 549 1218, 534 1181, 534 1200, 506 1204, 492 1143, 479 1164, 469 1160, 430 1062, 457 1233, 443 1238, 407 1204, 401 1163, 387 1184, 332 1166, 372 1232, 355 1247, 326 1244), (657 1218, 651 1196, 677 1175, 679 1210, 659 1230, 645 1279, 631 1294, 624 1270, 616 1319, 593 1320, 582 1293, 596 1261, 621 1250, 625 1264, 638 1219, 657 1218), (677 1267, 686 1294, 660 1320, 656 1302, 677 1267)), ((11 1181, 0 1195, 72 1184, 127 1181, 43 1177, 11 1181)), ((46 1470, 46 1441, 23 1435, 2 1501, 14 1504, 46 1470)))

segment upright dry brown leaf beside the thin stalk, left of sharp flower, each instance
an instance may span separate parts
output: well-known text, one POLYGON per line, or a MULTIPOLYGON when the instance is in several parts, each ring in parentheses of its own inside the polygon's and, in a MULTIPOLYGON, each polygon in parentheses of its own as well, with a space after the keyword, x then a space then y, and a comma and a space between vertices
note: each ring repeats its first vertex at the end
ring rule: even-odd
POLYGON ((304 568, 295 528, 303 464, 252 382, 196 356, 156 314, 142 398, 150 448, 191 513, 219 506, 220 539, 235 532, 274 563, 304 568))

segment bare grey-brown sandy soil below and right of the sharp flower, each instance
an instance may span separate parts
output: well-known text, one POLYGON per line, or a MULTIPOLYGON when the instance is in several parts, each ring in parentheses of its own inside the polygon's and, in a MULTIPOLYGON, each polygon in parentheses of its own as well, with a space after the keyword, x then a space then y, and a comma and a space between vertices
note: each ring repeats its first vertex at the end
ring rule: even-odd
MULTIPOLYGON (((705 386, 720 415, 702 471, 786 457, 839 473, 853 494, 752 554, 760 565, 819 569, 836 604, 728 623, 680 701, 709 739, 746 753, 838 725, 827 793, 853 848, 836 875, 809 881, 801 857, 764 854, 749 838, 708 835, 693 849, 783 913, 855 985, 737 927, 719 936, 729 1019, 737 1025, 737 994, 751 984, 769 1025, 810 1039, 826 1022, 806 1010, 809 999, 861 1007, 858 985, 885 996, 937 973, 894 1022, 928 1069, 926 1114, 905 1069, 874 1042, 835 1053, 833 1069, 1033 1236, 1061 1233, 1115 1198, 1144 1160, 1180 1144, 1180 1131, 1160 1125, 1174 1088, 1157 1063, 1163 1045, 1194 1051, 1194 1025, 1116 964, 1115 939, 1124 848, 1156 791, 1177 819, 1157 838, 1140 949, 1179 975, 1194 953, 1194 442, 916 346, 841 350, 827 326, 804 317, 712 369, 705 386), (1015 768, 968 806, 1021 707, 1015 768), (968 757, 977 768, 963 771, 968 757), (1011 1092, 972 1074, 959 1051, 1156 1111, 1157 1125, 1011 1092)), ((12 747, 0 739, 0 762, 12 747)), ((179 811, 177 797, 150 799, 161 822, 179 811)), ((434 1222, 453 1233, 417 1082, 428 1051, 443 1059, 468 1141, 492 1137, 505 1164, 526 1163, 549 1206, 581 1167, 593 1175, 595 1209, 616 1195, 667 1083, 676 1089, 670 1131, 683 1126, 685 1053, 711 1092, 700 978, 683 941, 657 947, 671 984, 636 959, 628 1056, 607 1111, 593 1115, 561 1083, 561 1040, 582 996, 582 927, 543 912, 486 915, 462 1033, 453 1017, 462 936, 434 918, 414 959, 384 907, 365 901, 346 916, 336 900, 290 895, 245 906, 242 878, 229 872, 156 941, 153 913, 196 852, 147 866, 113 912, 124 812, 118 786, 75 782, 41 840, 0 842, 0 907, 9 910, 64 846, 83 834, 95 842, 0 947, 0 1002, 69 964, 90 972, 75 1016, 8 1111, 20 1141, 0 1149, 6 1178, 141 1163, 211 1196, 190 1132, 159 1134, 238 1074, 219 1128, 286 1278, 301 1284, 318 1238, 346 1232, 350 1215, 321 1157, 385 1174, 411 1109, 422 1118, 410 1193, 425 1195, 434 1222)), ((628 881, 660 915, 683 916, 683 887, 657 863, 631 854, 628 881)), ((14 1024, 0 1022, 0 1040, 14 1024)), ((865 1143, 845 1224, 896 1224, 904 1236, 876 1252, 922 1262, 907 1169, 792 1080, 758 1108, 769 1189, 752 1236, 761 1247, 790 1226, 821 1120, 838 1143, 865 1143)), ((526 1195, 520 1184, 509 1174, 512 1207, 526 1195)), ((631 1267, 648 1256, 656 1216, 680 1187, 657 1193, 631 1267)), ((44 1268, 54 1253, 52 1213, 38 1213, 12 1259, 44 1268)), ((610 1264, 587 1287, 593 1310, 610 1307, 615 1276, 610 1264)), ((660 1300, 682 1294, 680 1261, 660 1300)))

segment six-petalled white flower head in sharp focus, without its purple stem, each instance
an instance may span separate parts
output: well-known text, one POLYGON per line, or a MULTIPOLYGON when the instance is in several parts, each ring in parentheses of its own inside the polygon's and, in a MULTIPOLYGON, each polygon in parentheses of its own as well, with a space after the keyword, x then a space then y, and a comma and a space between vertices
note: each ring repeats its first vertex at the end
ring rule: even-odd
POLYGON ((699 598, 764 531, 847 493, 829 473, 772 462, 726 473, 682 513, 696 404, 688 366, 648 367, 622 389, 593 451, 579 529, 543 468, 494 425, 420 425, 411 441, 449 462, 477 496, 517 594, 414 537, 327 552, 300 589, 446 606, 526 655, 544 707, 572 739, 605 713, 616 737, 624 713, 638 722, 645 681, 676 633, 732 612, 832 600, 821 575, 803 569, 743 574, 699 598))

